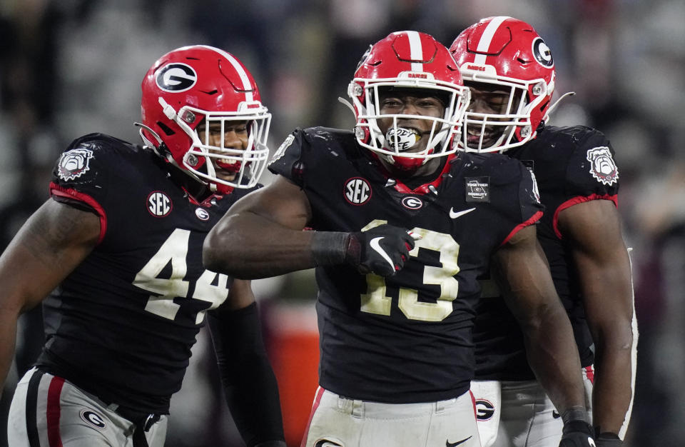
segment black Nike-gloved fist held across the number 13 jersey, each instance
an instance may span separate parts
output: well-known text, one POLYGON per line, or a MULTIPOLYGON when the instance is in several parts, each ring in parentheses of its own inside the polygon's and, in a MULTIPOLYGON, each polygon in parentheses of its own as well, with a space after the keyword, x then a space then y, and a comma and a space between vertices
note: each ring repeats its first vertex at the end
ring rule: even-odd
POLYGON ((405 265, 409 251, 414 248, 415 238, 421 236, 407 228, 387 224, 351 233, 345 261, 360 273, 390 276, 405 265))

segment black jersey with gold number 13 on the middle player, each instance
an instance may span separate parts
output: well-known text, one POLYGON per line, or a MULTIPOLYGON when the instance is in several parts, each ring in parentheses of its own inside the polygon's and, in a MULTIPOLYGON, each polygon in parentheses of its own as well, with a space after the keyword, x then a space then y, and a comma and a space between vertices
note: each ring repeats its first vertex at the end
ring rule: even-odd
POLYGON ((516 231, 542 214, 532 176, 507 156, 460 154, 432 183, 388 179, 350 131, 297 130, 270 170, 298 184, 319 231, 381 224, 422 236, 394 276, 316 269, 320 386, 367 401, 412 403, 469 388, 477 277, 516 231))

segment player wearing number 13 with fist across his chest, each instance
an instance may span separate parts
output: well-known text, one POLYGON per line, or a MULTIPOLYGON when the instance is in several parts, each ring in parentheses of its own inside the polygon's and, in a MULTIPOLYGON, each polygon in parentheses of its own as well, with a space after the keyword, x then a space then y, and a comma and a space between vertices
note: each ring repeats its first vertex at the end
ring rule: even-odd
POLYGON ((303 446, 480 447, 471 327, 491 257, 568 421, 564 446, 589 446, 572 329, 535 238, 534 180, 507 156, 456 156, 469 94, 450 52, 392 33, 348 94, 355 131, 295 130, 270 162, 273 183, 204 245, 205 265, 237 278, 316 268, 320 386, 303 446))

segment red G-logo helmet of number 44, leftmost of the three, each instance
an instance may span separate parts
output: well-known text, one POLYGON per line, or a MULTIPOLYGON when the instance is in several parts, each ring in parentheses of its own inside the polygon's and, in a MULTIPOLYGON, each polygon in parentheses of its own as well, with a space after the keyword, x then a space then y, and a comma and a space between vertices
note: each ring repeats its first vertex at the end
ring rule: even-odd
MULTIPOLYGON (((211 46, 184 46, 162 56, 148 70, 141 86, 141 138, 157 153, 212 191, 250 188, 261 176, 269 157, 266 146, 271 115, 260 101, 257 84, 232 54, 211 46), (225 147, 210 144, 208 131, 198 135, 198 125, 246 121, 248 144, 225 147), (221 179, 216 166, 235 172, 235 179, 221 179)), ((215 124, 216 126, 216 124, 215 124)))

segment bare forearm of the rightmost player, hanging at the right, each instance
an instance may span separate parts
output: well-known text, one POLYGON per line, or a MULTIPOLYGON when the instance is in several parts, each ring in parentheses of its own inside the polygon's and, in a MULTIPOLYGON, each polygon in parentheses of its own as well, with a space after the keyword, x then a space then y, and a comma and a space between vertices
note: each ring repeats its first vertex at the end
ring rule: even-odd
POLYGON ((592 391, 593 425, 601 433, 619 434, 626 420, 633 393, 632 335, 621 337, 617 346, 597 346, 592 391))

